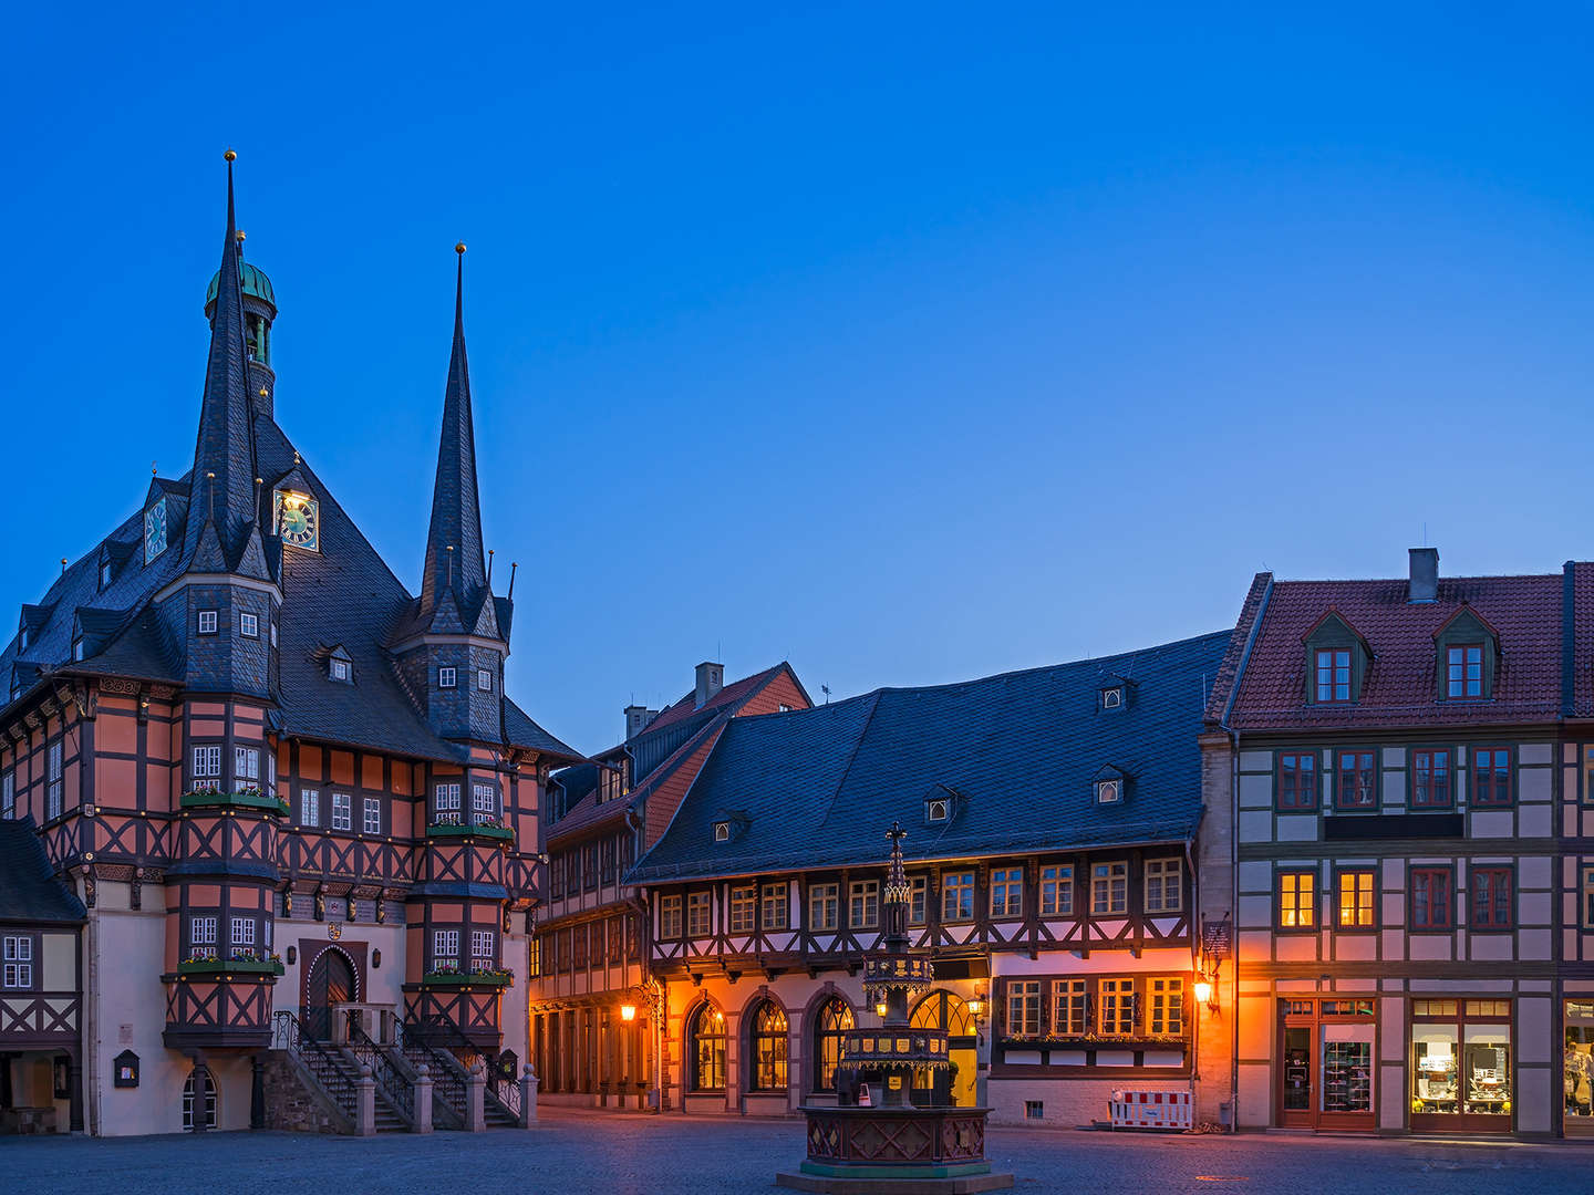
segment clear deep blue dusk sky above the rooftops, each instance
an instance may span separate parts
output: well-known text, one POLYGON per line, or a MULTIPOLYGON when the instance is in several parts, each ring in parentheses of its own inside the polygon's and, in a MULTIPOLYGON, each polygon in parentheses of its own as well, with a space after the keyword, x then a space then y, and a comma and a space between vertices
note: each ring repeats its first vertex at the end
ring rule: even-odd
POLYGON ((277 421, 419 580, 456 241, 510 690, 821 699, 1594 556, 1588 5, 32 5, 16 618, 193 456, 239 153, 277 421))

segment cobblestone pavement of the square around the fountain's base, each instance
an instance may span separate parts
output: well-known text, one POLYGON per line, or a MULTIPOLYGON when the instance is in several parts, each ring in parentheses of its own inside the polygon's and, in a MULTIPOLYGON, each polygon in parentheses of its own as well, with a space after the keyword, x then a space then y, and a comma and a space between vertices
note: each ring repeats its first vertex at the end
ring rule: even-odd
MULTIPOLYGON (((1594 1144, 1519 1146, 1293 1136, 1122 1136, 993 1130, 990 1155, 1042 1192, 1352 1192, 1584 1195, 1594 1144)), ((764 1192, 802 1160, 802 1125, 776 1120, 547 1112, 529 1131, 354 1138, 0 1138, 0 1195, 442 1192, 631 1195, 764 1192)))

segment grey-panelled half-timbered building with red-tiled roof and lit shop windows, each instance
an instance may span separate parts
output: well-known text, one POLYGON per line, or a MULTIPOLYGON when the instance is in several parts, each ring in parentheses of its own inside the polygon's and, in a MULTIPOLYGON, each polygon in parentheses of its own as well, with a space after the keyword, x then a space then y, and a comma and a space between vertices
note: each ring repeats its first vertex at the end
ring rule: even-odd
POLYGON ((1256 577, 1203 738, 1242 1128, 1573 1128, 1581 572, 1447 578, 1414 548, 1408 578, 1256 577))

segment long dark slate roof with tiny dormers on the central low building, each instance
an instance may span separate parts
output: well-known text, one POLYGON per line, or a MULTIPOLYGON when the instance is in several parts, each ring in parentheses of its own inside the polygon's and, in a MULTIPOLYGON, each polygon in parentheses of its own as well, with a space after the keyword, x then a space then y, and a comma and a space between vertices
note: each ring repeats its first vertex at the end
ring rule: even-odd
POLYGON ((626 880, 880 864, 893 821, 909 859, 1183 841, 1200 821, 1205 685, 1229 637, 733 719, 626 880), (1098 709, 1103 672, 1137 682, 1124 709, 1098 709), (1122 805, 1095 803, 1103 766, 1129 774, 1122 805), (945 825, 925 825, 932 793, 958 798, 945 825), (716 844, 732 814, 744 824, 716 844))

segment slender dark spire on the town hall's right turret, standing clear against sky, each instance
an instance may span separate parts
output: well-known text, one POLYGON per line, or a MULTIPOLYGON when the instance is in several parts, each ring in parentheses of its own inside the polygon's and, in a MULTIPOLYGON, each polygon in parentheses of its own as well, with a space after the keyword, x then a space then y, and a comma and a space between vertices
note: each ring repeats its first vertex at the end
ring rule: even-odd
MULTIPOLYGON (((443 435, 437 446, 432 524, 426 535, 421 615, 429 617, 453 590, 453 605, 475 610, 486 596, 481 551, 481 499, 477 492, 477 440, 470 416, 470 368, 465 362, 465 245, 454 245, 454 349, 443 394, 443 435)), ((473 620, 469 620, 473 621, 473 620)))

